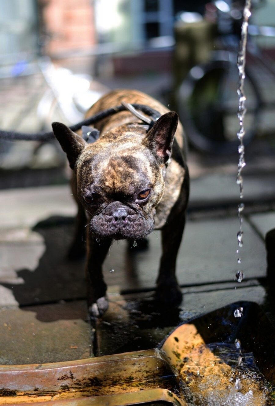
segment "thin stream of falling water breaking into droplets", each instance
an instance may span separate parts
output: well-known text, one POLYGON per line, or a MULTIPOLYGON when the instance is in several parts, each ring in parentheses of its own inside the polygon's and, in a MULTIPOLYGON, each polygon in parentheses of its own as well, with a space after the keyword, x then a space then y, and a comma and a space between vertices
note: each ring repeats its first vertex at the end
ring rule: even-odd
MULTIPOLYGON (((239 70, 239 83, 238 83, 238 99, 239 99, 239 106, 238 106, 238 119, 240 123, 240 129, 237 133, 238 139, 240 144, 238 146, 238 153, 239 153, 239 163, 238 163, 238 175, 236 179, 236 183, 240 188, 240 199, 243 199, 243 176, 242 171, 245 167, 245 146, 243 143, 243 137, 245 135, 245 128, 244 128, 244 118, 246 113, 245 108, 245 93, 244 93, 244 82, 245 82, 245 56, 246 56, 246 45, 247 45, 247 30, 248 30, 248 20, 251 16, 251 0, 245 1, 245 7, 243 9, 243 24, 241 30, 241 39, 240 39, 240 48, 238 52, 238 59, 237 59, 237 66, 239 70)), ((243 247, 243 210, 245 208, 244 203, 239 203, 238 205, 238 219, 239 219, 239 230, 237 233, 237 241, 239 248, 243 247)), ((239 254, 239 249, 236 251, 239 254)), ((241 257, 238 255, 238 264, 240 265, 242 262, 241 257)), ((244 274, 243 271, 238 270, 236 273, 236 280, 238 282, 243 281, 244 274)), ((234 317, 242 317, 243 315, 243 307, 238 307, 234 311, 234 317)), ((239 339, 235 340, 235 347, 239 350, 238 356, 238 367, 243 365, 243 357, 241 352, 241 343, 239 339)), ((236 379, 235 386, 237 391, 240 391, 242 388, 240 378, 236 379)))

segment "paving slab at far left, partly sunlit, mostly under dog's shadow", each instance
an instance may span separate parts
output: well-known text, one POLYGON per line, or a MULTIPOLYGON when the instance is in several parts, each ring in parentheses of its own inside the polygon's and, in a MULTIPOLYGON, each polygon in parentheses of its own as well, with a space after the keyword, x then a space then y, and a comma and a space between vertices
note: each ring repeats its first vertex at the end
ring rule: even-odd
MULTIPOLYGON (((33 232, 40 244, 0 243, 0 281, 11 302, 26 305, 86 296, 84 261, 66 258, 73 229, 72 224, 38 225, 33 232)), ((0 304, 5 303, 0 299, 0 304)))

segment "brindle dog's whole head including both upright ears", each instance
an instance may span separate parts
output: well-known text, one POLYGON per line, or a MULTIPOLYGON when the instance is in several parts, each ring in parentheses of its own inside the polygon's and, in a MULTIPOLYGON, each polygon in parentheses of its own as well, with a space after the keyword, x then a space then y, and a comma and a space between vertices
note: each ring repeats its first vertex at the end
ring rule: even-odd
POLYGON ((78 198, 99 237, 143 238, 165 189, 162 168, 171 156, 178 115, 162 115, 152 129, 122 126, 87 144, 61 123, 53 131, 76 173, 78 198))

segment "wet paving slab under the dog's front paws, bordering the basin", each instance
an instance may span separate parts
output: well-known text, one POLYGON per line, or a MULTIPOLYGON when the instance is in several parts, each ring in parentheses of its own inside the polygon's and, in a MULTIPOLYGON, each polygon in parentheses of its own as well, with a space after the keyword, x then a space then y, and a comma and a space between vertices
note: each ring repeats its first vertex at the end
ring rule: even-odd
POLYGON ((188 293, 182 289, 184 299, 180 309, 166 309, 165 312, 154 304, 150 294, 142 299, 126 300, 127 296, 111 298, 108 311, 97 323, 97 355, 154 348, 178 324, 236 301, 253 298, 254 302, 262 305, 266 292, 255 283, 254 286, 244 284, 236 290, 224 284, 224 289, 212 292, 188 293))

